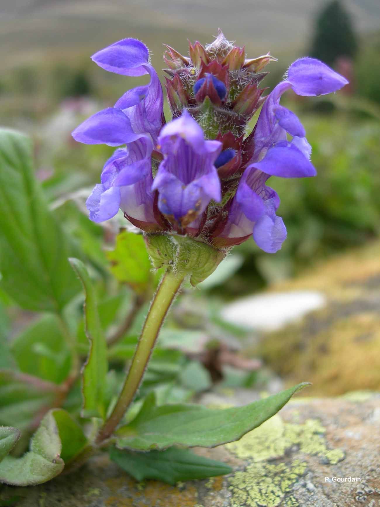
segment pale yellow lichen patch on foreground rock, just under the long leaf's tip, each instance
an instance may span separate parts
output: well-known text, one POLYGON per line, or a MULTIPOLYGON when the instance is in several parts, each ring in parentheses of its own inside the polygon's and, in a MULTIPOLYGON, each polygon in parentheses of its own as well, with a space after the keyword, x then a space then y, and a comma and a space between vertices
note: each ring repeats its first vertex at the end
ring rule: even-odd
POLYGON ((300 452, 319 456, 325 463, 335 464, 344 459, 345 454, 341 449, 327 448, 324 432, 324 427, 317 420, 308 419, 303 424, 290 424, 284 423, 279 415, 275 415, 239 441, 226 444, 225 447, 241 459, 260 462, 280 458, 287 449, 297 445, 300 452))

